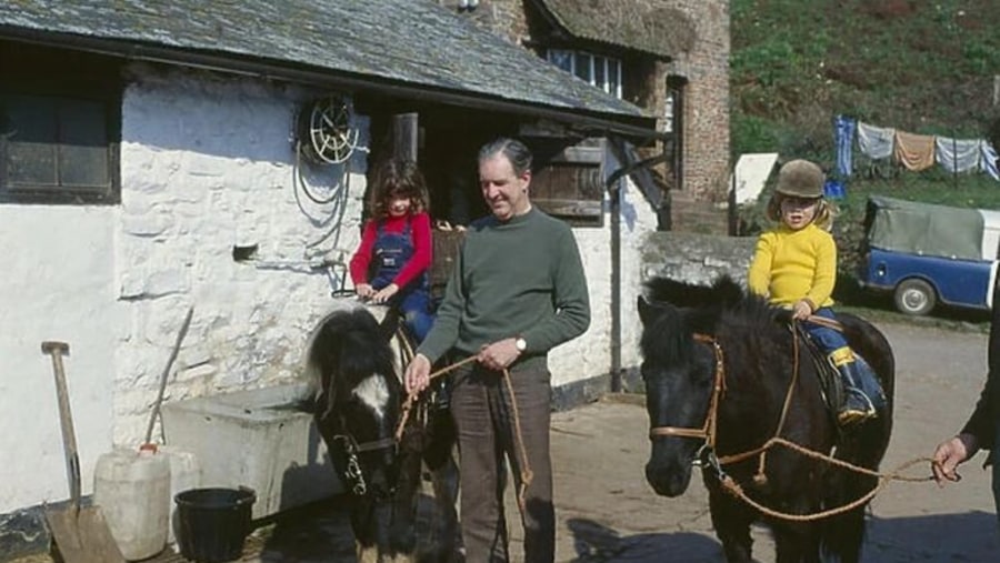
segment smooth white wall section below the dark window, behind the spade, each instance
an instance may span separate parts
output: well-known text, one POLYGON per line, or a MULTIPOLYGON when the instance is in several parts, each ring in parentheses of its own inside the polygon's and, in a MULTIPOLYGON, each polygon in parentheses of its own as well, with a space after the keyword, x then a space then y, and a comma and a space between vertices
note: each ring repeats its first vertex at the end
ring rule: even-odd
POLYGON ((0 513, 69 496, 52 361, 63 360, 84 482, 111 444, 121 308, 109 283, 116 208, 0 205, 0 513))

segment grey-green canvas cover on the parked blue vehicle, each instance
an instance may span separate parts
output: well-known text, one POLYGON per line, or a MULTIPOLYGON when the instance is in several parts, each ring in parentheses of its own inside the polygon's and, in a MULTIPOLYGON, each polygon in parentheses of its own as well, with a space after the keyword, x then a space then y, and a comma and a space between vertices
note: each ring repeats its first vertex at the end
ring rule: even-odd
POLYGON ((994 260, 983 248, 984 230, 996 230, 994 212, 870 197, 866 217, 868 244, 894 252, 957 260, 994 260))

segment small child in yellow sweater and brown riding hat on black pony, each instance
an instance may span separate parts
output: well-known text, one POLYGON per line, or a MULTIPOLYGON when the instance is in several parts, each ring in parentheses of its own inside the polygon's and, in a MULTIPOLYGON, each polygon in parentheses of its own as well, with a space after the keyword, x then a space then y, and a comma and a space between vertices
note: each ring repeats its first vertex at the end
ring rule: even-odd
POLYGON ((750 291, 788 306, 813 342, 827 353, 843 382, 838 422, 852 425, 874 418, 886 404, 871 368, 854 356, 840 331, 811 323, 810 315, 836 320, 833 284, 837 244, 829 229, 833 208, 823 200, 824 175, 812 162, 793 160, 781 167, 768 218, 780 224, 760 235, 747 275, 750 291))

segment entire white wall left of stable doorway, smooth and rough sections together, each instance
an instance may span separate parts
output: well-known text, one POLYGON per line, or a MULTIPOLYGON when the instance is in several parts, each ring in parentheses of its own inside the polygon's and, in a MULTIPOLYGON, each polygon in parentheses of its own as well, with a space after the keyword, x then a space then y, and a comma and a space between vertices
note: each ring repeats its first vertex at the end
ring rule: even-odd
MULTIPOLYGON (((358 243, 363 120, 337 239, 331 205, 297 191, 294 112, 306 92, 132 70, 121 205, 0 205, 8 261, 0 278, 0 513, 68 496, 42 340, 70 344, 88 494, 97 458, 112 442, 137 446, 144 438, 188 306, 193 322, 167 401, 291 381, 306 336, 333 305, 326 277, 308 261, 358 243), (234 262, 233 245, 250 244, 259 261, 234 262)), ((342 173, 314 168, 304 183, 322 194, 342 173)))

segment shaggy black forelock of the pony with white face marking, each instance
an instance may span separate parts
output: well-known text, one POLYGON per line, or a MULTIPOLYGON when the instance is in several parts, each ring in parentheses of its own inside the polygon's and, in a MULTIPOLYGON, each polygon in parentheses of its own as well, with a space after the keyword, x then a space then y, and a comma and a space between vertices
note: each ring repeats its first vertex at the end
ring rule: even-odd
POLYGON ((373 373, 394 375, 392 349, 374 316, 363 308, 337 310, 320 322, 307 348, 314 384, 350 390, 373 373))

